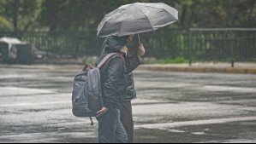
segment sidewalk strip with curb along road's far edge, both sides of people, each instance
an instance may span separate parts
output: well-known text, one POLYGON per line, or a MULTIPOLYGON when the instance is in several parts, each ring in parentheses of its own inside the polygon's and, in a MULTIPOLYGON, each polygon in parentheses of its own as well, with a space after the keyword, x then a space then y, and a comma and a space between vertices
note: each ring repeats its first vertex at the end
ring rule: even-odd
MULTIPOLYGON (((0 64, 0 68, 21 69, 59 69, 62 71, 78 71, 83 64, 35 64, 35 65, 7 65, 0 64)), ((167 71, 167 72, 216 72, 216 73, 243 73, 256 74, 256 63, 236 62, 234 67, 230 63, 193 63, 189 66, 184 64, 145 64, 138 67, 139 70, 167 71)))

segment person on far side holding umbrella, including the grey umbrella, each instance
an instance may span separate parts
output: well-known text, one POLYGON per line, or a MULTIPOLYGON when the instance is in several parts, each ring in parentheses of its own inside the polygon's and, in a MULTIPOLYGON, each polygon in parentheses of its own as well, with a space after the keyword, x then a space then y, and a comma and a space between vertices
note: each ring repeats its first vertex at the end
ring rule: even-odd
MULTIPOLYGON (((178 21, 178 11, 165 3, 125 4, 104 16, 103 20, 101 20, 98 25, 97 37, 107 37, 106 40, 108 37, 122 37, 128 39, 128 37, 131 38, 134 34, 138 34, 140 42, 140 33, 154 32, 176 21, 178 21)), ((137 56, 141 57, 144 54, 145 49, 143 45, 140 44, 137 56)), ((127 81, 127 93, 122 95, 124 102, 121 110, 121 121, 128 133, 129 142, 133 142, 134 126, 130 101, 136 97, 136 94, 132 72, 140 65, 140 60, 138 57, 136 58, 136 55, 134 59, 133 56, 130 57, 127 54, 124 57, 125 65, 127 66, 125 75, 129 81, 127 81), (137 62, 132 61, 136 59, 137 62)))

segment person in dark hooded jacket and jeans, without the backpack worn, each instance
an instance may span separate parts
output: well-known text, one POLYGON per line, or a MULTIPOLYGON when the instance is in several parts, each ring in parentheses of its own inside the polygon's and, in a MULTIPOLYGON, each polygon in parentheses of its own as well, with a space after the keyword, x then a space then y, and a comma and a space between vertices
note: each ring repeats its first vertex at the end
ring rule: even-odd
POLYGON ((127 89, 125 78, 126 65, 123 56, 127 54, 125 47, 127 39, 124 37, 107 37, 104 41, 104 52, 96 61, 99 61, 110 53, 111 56, 104 66, 100 68, 100 80, 104 107, 97 112, 98 142, 99 143, 127 143, 128 135, 120 120, 122 108, 122 95, 127 89))

